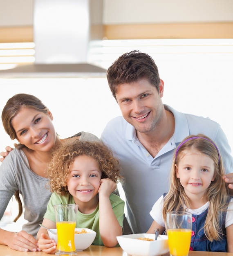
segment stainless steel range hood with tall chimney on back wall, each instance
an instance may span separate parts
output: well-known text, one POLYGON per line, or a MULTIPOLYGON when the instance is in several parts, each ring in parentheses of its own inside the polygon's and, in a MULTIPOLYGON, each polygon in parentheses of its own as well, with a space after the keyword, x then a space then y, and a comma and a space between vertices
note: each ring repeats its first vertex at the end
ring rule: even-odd
POLYGON ((88 63, 91 40, 103 39, 103 0, 34 0, 35 63, 0 77, 105 77, 88 63))

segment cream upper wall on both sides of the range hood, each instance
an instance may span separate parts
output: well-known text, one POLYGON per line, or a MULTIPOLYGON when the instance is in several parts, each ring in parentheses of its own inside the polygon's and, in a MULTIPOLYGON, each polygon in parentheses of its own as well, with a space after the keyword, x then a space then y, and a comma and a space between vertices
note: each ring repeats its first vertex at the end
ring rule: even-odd
MULTIPOLYGON (((232 10, 232 0, 103 0, 103 24, 232 22, 232 10)), ((0 27, 31 25, 33 0, 0 0, 0 27)))

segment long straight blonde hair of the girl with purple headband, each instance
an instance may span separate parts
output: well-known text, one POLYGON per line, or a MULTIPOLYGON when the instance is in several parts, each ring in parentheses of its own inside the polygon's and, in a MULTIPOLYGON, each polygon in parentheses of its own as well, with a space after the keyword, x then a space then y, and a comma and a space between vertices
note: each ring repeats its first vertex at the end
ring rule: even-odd
POLYGON ((215 143, 205 135, 190 135, 186 137, 177 147, 177 151, 173 156, 172 168, 170 172, 170 189, 164 197, 163 218, 166 225, 166 213, 169 211, 186 210, 190 208, 189 199, 184 192, 183 186, 176 176, 176 166, 186 152, 190 149, 195 149, 208 157, 210 157, 215 166, 215 180, 211 182, 206 190, 205 197, 209 202, 208 213, 204 224, 204 233, 208 240, 220 240, 222 229, 220 220, 222 212, 228 207, 228 191, 226 184, 222 179, 224 168, 222 157, 215 143))

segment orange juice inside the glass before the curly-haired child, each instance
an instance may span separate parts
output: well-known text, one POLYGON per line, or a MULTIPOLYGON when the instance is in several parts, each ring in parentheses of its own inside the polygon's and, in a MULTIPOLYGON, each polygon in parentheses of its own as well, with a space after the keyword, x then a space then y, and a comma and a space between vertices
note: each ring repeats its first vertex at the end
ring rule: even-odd
POLYGON ((75 252, 74 244, 74 229, 75 222, 72 221, 60 221, 56 222, 58 243, 58 252, 75 252))

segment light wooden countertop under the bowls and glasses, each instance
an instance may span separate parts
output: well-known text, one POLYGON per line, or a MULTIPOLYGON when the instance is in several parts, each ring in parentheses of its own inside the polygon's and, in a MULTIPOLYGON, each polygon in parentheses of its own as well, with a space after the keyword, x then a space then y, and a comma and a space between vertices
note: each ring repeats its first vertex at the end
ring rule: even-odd
MULTIPOLYGON (((0 256, 48 256, 45 252, 18 252, 10 249, 6 245, 0 245, 0 256)), ((107 248, 104 246, 91 245, 82 252, 77 252, 77 256, 128 256, 121 247, 107 248)), ((228 252, 189 252, 189 256, 233 256, 233 253, 228 252)), ((164 254, 169 256, 169 254, 164 254)))

